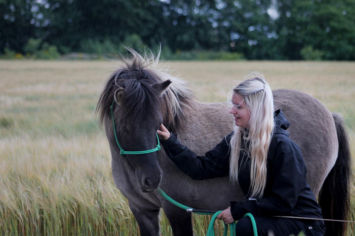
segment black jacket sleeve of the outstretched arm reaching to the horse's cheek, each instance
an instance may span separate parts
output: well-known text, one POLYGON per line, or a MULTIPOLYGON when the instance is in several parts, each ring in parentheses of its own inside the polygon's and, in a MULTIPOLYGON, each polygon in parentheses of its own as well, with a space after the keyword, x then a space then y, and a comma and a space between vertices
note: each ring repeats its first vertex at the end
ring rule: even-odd
POLYGON ((171 134, 162 144, 168 157, 182 172, 192 179, 209 179, 229 174, 229 142, 232 135, 233 132, 224 137, 222 142, 204 156, 197 156, 182 145, 177 134, 171 134))

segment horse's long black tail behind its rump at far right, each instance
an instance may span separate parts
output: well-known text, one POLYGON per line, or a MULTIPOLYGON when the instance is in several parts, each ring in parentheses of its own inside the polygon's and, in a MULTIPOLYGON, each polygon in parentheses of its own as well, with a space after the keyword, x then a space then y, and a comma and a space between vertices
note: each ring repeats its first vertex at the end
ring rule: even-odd
MULTIPOLYGON (((346 220, 350 215, 350 184, 353 183, 351 173, 351 153, 349 136, 346 133, 343 117, 333 113, 338 136, 338 157, 324 180, 318 196, 324 219, 346 220)), ((325 221, 326 234, 343 236, 346 234, 347 223, 325 221)))

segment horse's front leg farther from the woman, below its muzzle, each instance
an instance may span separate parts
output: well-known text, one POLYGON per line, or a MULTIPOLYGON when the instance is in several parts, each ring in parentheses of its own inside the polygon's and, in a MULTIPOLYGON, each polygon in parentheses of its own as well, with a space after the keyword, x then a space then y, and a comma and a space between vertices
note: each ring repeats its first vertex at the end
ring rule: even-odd
POLYGON ((160 208, 144 209, 129 202, 131 211, 135 216, 142 236, 160 235, 159 211, 160 208))

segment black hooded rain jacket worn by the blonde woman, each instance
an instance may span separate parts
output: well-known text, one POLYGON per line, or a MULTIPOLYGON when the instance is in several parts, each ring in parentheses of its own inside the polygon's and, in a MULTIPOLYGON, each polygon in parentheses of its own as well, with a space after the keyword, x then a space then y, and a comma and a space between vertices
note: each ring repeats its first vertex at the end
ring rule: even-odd
MULTIPOLYGON (((321 208, 307 184, 307 170, 301 150, 286 131, 290 123, 281 110, 275 111, 274 117, 275 129, 267 156, 267 181, 263 196, 261 199, 250 197, 251 160, 245 152, 241 152, 238 182, 246 199, 244 202, 230 202, 233 219, 239 220, 248 212, 256 216, 285 215, 321 219, 321 208)), ((204 156, 197 156, 183 146, 177 134, 171 134, 162 144, 175 165, 192 179, 224 177, 229 175, 229 142, 233 133, 223 138, 204 156)), ((304 221, 325 230, 323 220, 304 221)))

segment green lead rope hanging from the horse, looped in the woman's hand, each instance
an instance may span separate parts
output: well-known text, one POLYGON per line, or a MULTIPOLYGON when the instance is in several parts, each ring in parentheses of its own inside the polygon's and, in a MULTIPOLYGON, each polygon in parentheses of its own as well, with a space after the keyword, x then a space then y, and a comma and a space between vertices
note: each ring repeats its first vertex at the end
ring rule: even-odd
MULTIPOLYGON (((161 190, 161 189, 158 189, 157 190, 159 192, 160 195, 162 195, 168 202, 170 203, 173 203, 175 206, 177 207, 180 207, 184 210, 188 210, 188 209, 193 209, 191 207, 187 207, 185 205, 182 205, 181 203, 175 201, 173 198, 169 197, 168 195, 166 195, 166 193, 161 190)), ((195 212, 195 211, 194 211, 195 212)), ((214 236, 214 221, 217 219, 217 215, 219 213, 221 213, 222 211, 218 211, 216 213, 204 213, 204 212, 195 212, 197 214, 201 214, 201 215, 213 215, 212 218, 211 218, 211 221, 209 221, 209 225, 208 225, 208 230, 207 230, 207 234, 206 236, 214 236)), ((250 213, 246 213, 244 215, 244 217, 249 217, 250 220, 251 220, 251 224, 253 225, 253 232, 254 232, 254 236, 258 236, 258 232, 257 232, 257 229, 256 229, 256 223, 255 223, 255 219, 253 217, 252 214, 250 213)), ((232 224, 230 224, 230 236, 235 236, 235 222, 233 222, 232 224)), ((223 231, 223 236, 227 236, 227 231, 228 231, 228 225, 224 224, 224 231, 223 231)))

